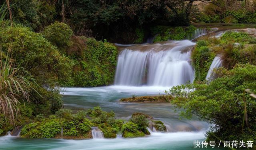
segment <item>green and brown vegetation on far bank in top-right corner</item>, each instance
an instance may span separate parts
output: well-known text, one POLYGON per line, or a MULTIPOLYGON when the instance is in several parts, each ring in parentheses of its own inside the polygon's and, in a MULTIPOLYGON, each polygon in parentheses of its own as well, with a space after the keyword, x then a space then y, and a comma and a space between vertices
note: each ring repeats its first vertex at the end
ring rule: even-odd
POLYGON ((255 0, 216 0, 195 4, 190 20, 198 23, 256 23, 255 0))

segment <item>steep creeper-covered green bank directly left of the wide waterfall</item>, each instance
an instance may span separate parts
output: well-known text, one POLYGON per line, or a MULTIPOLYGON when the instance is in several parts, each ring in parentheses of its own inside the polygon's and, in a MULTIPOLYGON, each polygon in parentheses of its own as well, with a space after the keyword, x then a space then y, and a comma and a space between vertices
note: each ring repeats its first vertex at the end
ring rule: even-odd
POLYGON ((96 41, 92 38, 79 37, 80 43, 70 47, 68 53, 77 51, 79 54, 71 55, 76 65, 73 71, 74 83, 69 86, 102 86, 114 81, 116 68, 117 48, 108 42, 96 41), (80 45, 86 45, 82 47, 80 45))

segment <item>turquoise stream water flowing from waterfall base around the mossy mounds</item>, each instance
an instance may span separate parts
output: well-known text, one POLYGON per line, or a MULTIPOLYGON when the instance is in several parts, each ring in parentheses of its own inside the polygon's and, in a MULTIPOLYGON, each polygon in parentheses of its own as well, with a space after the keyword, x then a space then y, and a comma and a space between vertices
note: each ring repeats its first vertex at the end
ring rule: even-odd
MULTIPOLYGON (((169 103, 124 103, 118 101, 131 95, 163 94, 165 87, 66 88, 63 94, 65 108, 86 109, 100 105, 105 111, 113 110, 116 117, 128 119, 134 112, 143 112, 165 123, 169 132, 152 132, 142 138, 115 139, 27 139, 16 136, 0 137, 0 150, 191 150, 194 140, 204 140, 208 124, 181 119, 169 103)), ((205 148, 199 148, 205 149, 205 148)), ((214 148, 206 148, 214 149, 214 148)), ((220 149, 220 148, 215 148, 220 149)))

